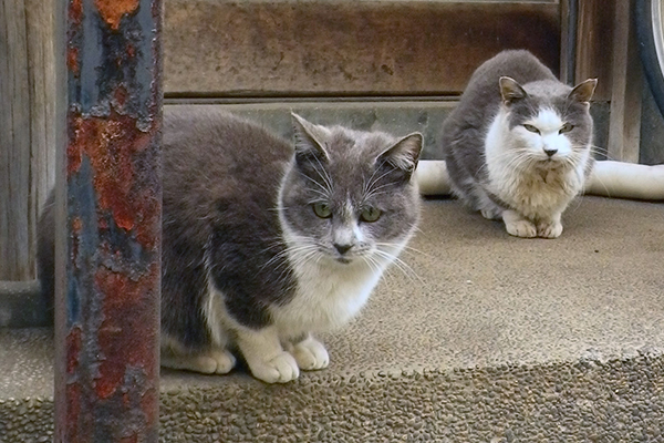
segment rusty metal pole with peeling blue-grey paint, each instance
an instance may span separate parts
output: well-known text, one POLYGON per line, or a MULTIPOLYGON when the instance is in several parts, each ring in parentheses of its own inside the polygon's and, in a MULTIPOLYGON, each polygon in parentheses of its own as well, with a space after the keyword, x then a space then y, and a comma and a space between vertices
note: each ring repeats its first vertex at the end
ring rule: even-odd
POLYGON ((62 3, 55 442, 157 442, 162 0, 62 3))

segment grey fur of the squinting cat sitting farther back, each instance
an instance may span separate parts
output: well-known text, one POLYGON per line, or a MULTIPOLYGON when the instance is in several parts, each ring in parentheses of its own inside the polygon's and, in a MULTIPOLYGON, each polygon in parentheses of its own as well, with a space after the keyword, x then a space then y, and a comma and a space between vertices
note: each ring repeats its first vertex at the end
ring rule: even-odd
MULTIPOLYGON (((562 159, 552 157, 550 161, 529 161, 528 167, 513 167, 513 177, 510 178, 518 181, 519 174, 533 174, 536 169, 538 174, 546 176, 548 171, 567 171, 578 166, 581 174, 587 175, 591 171, 592 159, 587 161, 584 156, 591 150, 593 132, 588 102, 595 84, 595 80, 589 80, 572 89, 558 81, 528 51, 504 51, 481 64, 470 78, 458 106, 442 128, 442 152, 453 192, 473 209, 481 210, 487 218, 500 218, 505 210, 519 212, 535 224, 542 220, 548 223, 550 220, 547 218, 554 218, 546 215, 547 210, 516 207, 510 204, 509 195, 497 190, 489 177, 490 165, 487 164, 489 128, 499 113, 507 115, 508 127, 505 130, 508 133, 522 127, 541 110, 553 110, 563 122, 573 127, 566 133, 573 146, 573 154, 562 159), (581 157, 583 159, 578 159, 581 157)), ((516 156, 515 153, 515 158, 516 156)), ((569 193, 579 190, 574 188, 569 193)))

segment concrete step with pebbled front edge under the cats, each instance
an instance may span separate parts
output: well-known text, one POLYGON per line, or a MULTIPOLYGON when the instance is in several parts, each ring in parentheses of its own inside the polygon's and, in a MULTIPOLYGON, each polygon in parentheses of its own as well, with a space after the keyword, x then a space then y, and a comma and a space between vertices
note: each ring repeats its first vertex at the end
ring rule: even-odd
MULTIPOLYGON (((580 198, 556 240, 456 200, 423 216, 329 369, 164 371, 162 441, 664 441, 662 204, 580 198)), ((48 330, 0 332, 0 442, 49 441, 52 358, 48 330)))

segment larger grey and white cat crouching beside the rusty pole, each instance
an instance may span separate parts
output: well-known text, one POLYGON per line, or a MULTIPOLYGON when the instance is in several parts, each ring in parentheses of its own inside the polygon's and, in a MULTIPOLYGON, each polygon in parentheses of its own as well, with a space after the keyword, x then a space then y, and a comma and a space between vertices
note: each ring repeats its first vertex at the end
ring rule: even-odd
POLYGON ((163 365, 227 373, 239 349, 268 383, 325 368, 312 333, 357 315, 413 235, 422 135, 293 127, 294 148, 220 111, 165 111, 163 365))

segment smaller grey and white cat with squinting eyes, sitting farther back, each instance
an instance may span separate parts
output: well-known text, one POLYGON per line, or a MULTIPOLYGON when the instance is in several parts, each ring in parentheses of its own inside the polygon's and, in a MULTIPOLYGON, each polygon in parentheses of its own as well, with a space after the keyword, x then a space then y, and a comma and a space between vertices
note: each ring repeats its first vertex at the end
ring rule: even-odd
POLYGON ((454 194, 513 236, 559 237, 593 165, 595 86, 567 86, 528 51, 481 64, 443 125, 454 194))

